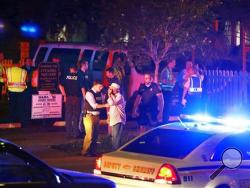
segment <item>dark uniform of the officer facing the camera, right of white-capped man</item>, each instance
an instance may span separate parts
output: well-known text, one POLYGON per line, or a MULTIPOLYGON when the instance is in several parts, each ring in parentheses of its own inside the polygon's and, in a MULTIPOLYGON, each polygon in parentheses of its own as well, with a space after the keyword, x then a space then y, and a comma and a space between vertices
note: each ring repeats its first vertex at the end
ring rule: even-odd
POLYGON ((139 125, 152 126, 157 122, 158 114, 158 100, 157 94, 161 93, 161 89, 156 83, 151 83, 150 86, 141 84, 138 95, 141 96, 141 103, 139 105, 139 125))

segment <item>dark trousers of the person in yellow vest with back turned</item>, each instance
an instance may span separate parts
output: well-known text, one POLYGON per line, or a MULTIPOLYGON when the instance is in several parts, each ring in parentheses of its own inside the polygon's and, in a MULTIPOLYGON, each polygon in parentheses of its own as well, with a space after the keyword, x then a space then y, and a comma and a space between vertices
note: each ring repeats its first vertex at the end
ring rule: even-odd
POLYGON ((24 93, 9 91, 9 118, 11 122, 24 124, 24 93))

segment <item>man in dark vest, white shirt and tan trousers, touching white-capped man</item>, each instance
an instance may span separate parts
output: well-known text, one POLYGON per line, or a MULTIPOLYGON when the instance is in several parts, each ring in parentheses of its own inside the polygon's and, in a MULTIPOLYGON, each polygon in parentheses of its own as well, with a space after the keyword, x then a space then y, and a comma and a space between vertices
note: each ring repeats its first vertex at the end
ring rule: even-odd
POLYGON ((102 89, 102 83, 94 81, 93 87, 85 95, 83 124, 86 135, 81 152, 84 156, 96 156, 100 109, 108 107, 108 104, 102 104, 102 89))

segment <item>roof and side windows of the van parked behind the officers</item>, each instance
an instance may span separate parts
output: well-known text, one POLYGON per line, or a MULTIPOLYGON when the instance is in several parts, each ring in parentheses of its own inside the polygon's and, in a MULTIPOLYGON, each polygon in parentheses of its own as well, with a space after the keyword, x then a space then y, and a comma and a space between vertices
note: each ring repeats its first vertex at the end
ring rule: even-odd
POLYGON ((41 62, 59 61, 62 74, 68 71, 70 64, 77 64, 82 58, 89 61, 89 71, 93 79, 107 82, 104 70, 111 67, 117 58, 126 53, 117 49, 105 49, 97 45, 81 43, 46 43, 39 45, 33 62, 36 67, 41 62))

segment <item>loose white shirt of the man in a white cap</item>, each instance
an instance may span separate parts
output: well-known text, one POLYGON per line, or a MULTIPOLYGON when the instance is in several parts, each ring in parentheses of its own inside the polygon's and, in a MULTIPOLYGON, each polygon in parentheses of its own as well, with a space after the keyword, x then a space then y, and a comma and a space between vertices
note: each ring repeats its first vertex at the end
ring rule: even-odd
POLYGON ((110 116, 110 126, 114 126, 117 123, 122 123, 125 125, 126 123, 126 113, 125 113, 125 105, 126 102, 121 93, 117 93, 112 97, 108 98, 109 108, 109 116, 110 116))

